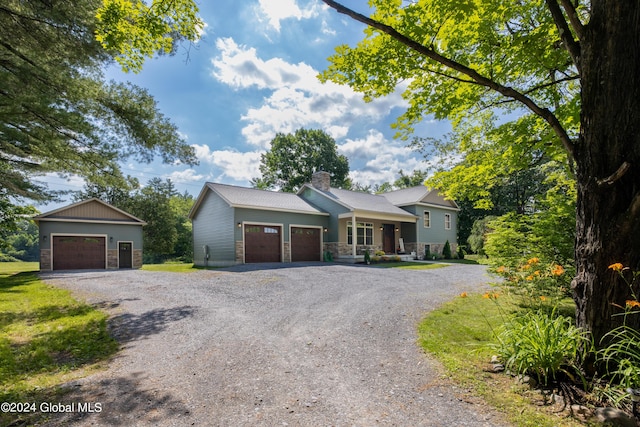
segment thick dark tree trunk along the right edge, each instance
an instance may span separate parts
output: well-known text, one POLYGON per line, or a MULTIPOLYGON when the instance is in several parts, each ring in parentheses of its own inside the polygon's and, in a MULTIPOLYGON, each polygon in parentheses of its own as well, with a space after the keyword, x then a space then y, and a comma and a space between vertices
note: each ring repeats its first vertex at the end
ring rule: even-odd
MULTIPOLYGON (((577 324, 597 347, 620 325, 629 286, 607 267, 640 269, 640 2, 593 0, 582 40, 576 267, 577 324)), ((627 273, 629 273, 627 271, 627 273)), ((639 283, 635 284, 638 295, 639 283)), ((627 317, 640 328, 640 314, 627 317)))

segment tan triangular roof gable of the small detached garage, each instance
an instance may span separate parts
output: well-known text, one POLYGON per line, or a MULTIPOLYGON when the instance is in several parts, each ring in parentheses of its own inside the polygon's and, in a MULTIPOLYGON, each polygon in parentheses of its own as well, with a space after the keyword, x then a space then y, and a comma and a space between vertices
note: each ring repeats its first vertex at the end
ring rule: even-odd
POLYGON ((45 212, 35 216, 33 219, 35 221, 95 221, 146 224, 143 220, 96 198, 45 212))

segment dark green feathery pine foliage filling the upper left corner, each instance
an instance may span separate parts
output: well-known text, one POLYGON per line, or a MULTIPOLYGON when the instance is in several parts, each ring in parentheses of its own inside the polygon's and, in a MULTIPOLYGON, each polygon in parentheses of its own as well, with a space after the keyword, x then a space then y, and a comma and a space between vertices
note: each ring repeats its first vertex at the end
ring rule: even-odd
MULTIPOLYGON (((113 51, 96 40, 101 0, 6 0, 0 6, 0 217, 55 193, 38 177, 117 185, 118 162, 196 162, 149 93, 108 82, 113 51)), ((3 221, 4 222, 4 221, 3 221)))

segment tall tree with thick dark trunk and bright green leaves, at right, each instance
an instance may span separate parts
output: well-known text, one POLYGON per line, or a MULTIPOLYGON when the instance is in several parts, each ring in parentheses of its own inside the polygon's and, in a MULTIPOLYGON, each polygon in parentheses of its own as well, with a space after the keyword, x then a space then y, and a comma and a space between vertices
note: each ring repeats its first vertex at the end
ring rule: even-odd
MULTIPOLYGON (((495 128, 505 143, 564 150, 577 181, 577 324, 602 345, 623 319, 615 304, 631 297, 607 267, 640 268, 640 3, 372 0, 368 17, 323 1, 368 26, 323 78, 367 98, 408 81, 400 131, 425 114, 456 126, 474 112, 524 109, 495 128)), ((640 328, 640 316, 627 322, 640 328)))

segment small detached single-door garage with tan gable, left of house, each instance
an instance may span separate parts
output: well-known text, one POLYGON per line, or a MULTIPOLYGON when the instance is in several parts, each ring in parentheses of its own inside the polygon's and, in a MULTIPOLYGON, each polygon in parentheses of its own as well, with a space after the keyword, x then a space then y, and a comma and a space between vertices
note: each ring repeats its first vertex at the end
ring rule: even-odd
POLYGON ((40 270, 140 268, 146 223, 99 199, 34 218, 40 228, 40 270))

